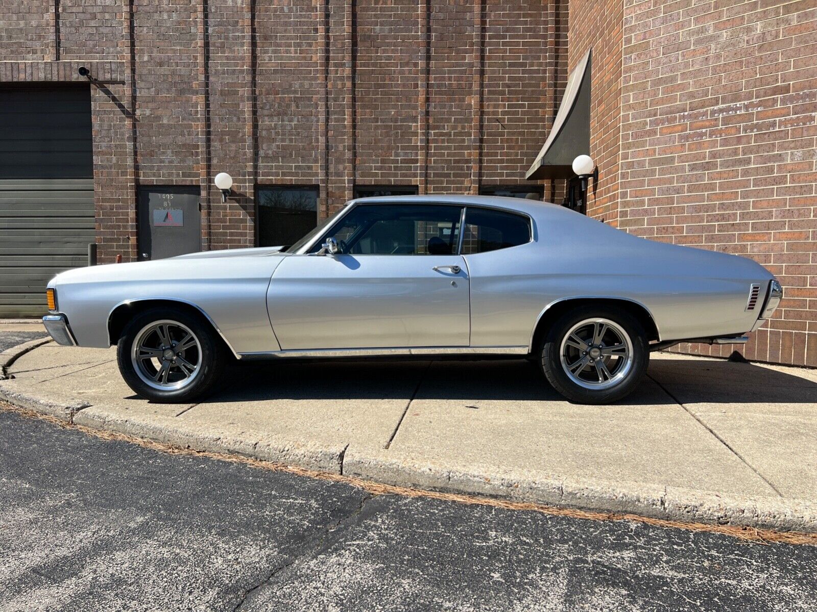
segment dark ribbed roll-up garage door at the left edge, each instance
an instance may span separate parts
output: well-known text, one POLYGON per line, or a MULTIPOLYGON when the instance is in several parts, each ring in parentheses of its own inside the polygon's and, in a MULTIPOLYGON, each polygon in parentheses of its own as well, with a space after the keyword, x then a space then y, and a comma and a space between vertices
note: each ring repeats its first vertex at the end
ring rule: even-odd
POLYGON ((0 87, 0 317, 45 312, 95 241, 87 86, 0 87))

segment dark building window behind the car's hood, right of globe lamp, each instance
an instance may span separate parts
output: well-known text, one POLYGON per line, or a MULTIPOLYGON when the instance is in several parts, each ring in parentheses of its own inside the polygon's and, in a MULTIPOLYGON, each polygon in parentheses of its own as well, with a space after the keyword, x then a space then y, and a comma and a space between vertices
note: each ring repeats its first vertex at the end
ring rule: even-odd
POLYGON ((258 246, 292 245, 318 224, 317 187, 259 187, 258 246))

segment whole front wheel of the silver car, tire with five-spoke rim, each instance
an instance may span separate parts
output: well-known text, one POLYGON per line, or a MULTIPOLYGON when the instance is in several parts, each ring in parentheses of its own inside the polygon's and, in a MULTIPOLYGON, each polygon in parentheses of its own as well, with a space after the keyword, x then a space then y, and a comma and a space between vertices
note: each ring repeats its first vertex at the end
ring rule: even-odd
POLYGON ((117 344, 119 371, 127 386, 141 397, 162 403, 184 403, 208 395, 221 379, 228 360, 227 349, 210 323, 186 308, 150 308, 137 314, 127 323, 117 344), (159 331, 162 327, 164 330, 159 331), (188 333, 194 344, 190 344, 188 333), (164 343, 164 337, 169 342, 164 343), (134 344, 137 339, 144 347, 139 357, 134 344), (164 344, 170 353, 160 350, 164 344), (179 352, 173 354, 176 348, 179 352), (142 357, 152 351, 162 357, 142 357), (148 379, 154 372, 158 379, 150 383, 148 379))

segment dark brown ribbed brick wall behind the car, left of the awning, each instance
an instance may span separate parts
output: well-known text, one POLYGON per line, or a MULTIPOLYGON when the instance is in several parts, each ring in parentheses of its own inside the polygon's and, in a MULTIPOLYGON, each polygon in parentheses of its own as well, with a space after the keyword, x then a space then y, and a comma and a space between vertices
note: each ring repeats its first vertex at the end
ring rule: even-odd
POLYGON ((258 184, 318 185, 321 215, 352 197, 355 181, 421 193, 524 184, 564 82, 554 53, 564 0, 0 0, 0 9, 0 62, 15 62, 7 81, 77 80, 70 61, 97 78, 100 262, 136 257, 145 185, 199 184, 203 248, 229 248, 256 241, 258 184), (119 73, 106 81, 98 72, 111 63, 119 73), (234 178, 225 204, 212 187, 218 171, 234 178))

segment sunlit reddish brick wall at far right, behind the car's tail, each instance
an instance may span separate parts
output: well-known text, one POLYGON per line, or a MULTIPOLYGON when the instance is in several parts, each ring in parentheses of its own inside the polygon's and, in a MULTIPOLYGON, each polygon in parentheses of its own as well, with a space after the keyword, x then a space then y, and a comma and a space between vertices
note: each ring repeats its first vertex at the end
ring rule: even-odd
POLYGON ((817 366, 815 2, 626 0, 623 36, 620 226, 765 265, 746 356, 817 366))

